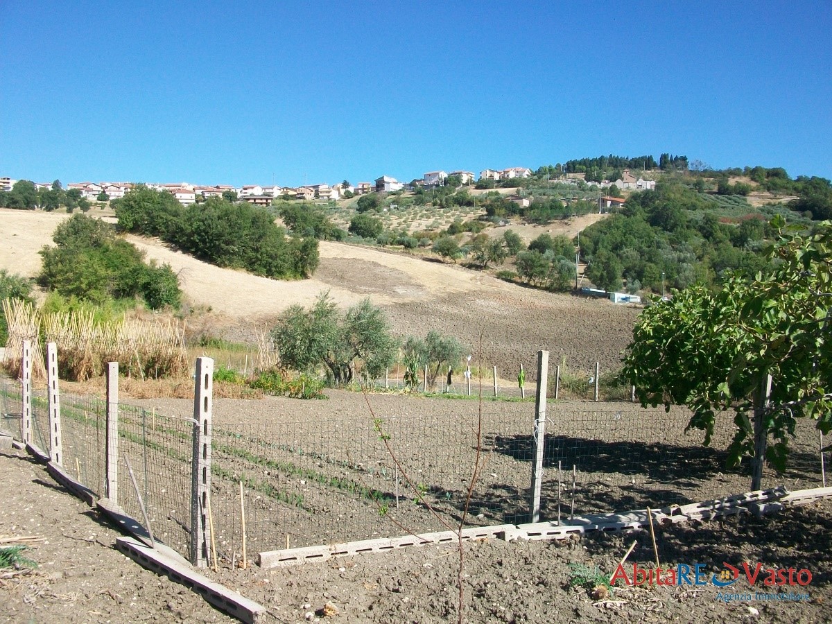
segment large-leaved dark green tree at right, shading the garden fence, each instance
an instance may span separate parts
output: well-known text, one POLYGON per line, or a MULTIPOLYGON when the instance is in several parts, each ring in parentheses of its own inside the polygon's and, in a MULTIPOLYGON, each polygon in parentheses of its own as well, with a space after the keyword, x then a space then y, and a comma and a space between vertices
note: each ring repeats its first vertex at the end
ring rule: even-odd
POLYGON ((688 428, 704 430, 706 444, 718 414, 733 412, 730 463, 752 458, 752 490, 764 458, 785 468, 796 418, 832 430, 832 223, 808 235, 785 230, 781 217, 771 225, 780 232, 768 252, 775 268, 648 307, 623 368, 642 405, 686 404, 688 428))

